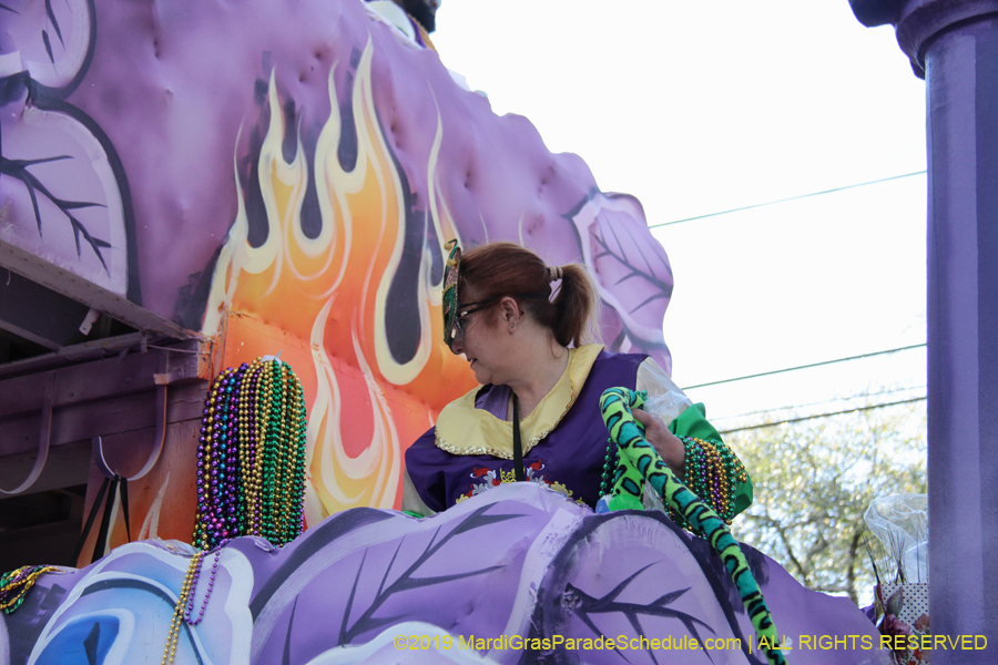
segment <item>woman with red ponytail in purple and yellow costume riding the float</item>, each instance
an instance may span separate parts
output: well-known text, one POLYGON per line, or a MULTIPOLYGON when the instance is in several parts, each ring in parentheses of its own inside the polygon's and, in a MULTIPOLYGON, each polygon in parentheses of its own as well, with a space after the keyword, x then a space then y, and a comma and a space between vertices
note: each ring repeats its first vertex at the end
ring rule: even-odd
POLYGON ((587 344, 598 337, 599 299, 583 266, 548 267, 512 243, 464 256, 454 246, 444 288, 445 341, 481 387, 447 405, 406 451, 403 510, 429 515, 525 480, 594 507, 615 467, 599 407, 611 387, 681 396, 686 409, 668 427, 634 411, 649 443, 679 478, 696 477, 686 479, 694 491, 723 489, 699 492, 722 516, 752 502, 751 481, 703 405, 692 405, 648 356, 587 344))

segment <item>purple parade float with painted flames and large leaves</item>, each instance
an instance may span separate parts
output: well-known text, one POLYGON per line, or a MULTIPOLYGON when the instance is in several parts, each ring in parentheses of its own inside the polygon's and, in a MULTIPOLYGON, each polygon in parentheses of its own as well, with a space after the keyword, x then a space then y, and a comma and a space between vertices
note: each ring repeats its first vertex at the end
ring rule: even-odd
POLYGON ((440 341, 450 238, 587 264, 608 348, 671 367, 640 203, 425 40, 358 0, 0 11, 0 490, 28 515, 0 567, 38 564, 3 579, 0 662, 886 657, 700 516, 533 483, 397 510, 475 385, 440 341))

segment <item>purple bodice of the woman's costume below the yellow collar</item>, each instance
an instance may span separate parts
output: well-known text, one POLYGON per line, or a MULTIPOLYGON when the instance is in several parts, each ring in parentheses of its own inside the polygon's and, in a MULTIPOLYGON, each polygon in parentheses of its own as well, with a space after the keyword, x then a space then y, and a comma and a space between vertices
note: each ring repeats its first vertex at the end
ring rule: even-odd
MULTIPOLYGON (((600 415, 600 396, 607 388, 618 386, 633 390, 638 368, 645 358, 600 351, 572 408, 550 434, 523 456, 529 481, 554 489, 560 489, 560 483, 573 500, 595 505, 608 438, 600 415)), ((501 420, 508 397, 506 386, 485 386, 475 405, 501 420)), ((489 454, 451 454, 437 447, 436 428, 430 428, 406 451, 406 469, 422 502, 440 512, 461 498, 511 479, 513 462, 489 454)))

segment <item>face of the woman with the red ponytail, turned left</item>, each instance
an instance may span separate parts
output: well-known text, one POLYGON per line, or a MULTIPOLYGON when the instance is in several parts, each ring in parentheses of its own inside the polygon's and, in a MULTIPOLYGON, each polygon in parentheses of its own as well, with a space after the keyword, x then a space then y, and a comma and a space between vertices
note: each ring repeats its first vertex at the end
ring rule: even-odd
MULTIPOLYGON (((478 291, 466 287, 461 290, 461 305, 479 301, 478 291)), ((510 377, 510 335, 503 324, 502 301, 485 309, 471 311, 460 319, 460 332, 454 338, 454 352, 464 355, 471 364, 475 379, 486 383, 506 385, 510 377), (498 320, 497 320, 498 315, 498 320)), ((458 316, 461 310, 458 309, 458 316)))

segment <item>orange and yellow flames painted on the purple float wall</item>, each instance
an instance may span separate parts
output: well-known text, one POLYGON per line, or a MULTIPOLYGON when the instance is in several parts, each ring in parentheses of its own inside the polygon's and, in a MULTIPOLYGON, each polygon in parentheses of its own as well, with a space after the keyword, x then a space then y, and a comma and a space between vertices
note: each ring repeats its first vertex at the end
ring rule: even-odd
MULTIPOLYGON (((212 283, 204 332, 221 340, 221 367, 282 352, 305 388, 308 408, 306 521, 359 505, 398 505, 404 447, 421 434, 448 401, 473 387, 467 366, 441 338, 439 283, 430 256, 419 268, 420 339, 398 362, 387 341, 386 301, 398 269, 406 211, 401 178, 378 123, 368 41, 350 103, 357 162, 345 171, 337 149, 343 130, 334 73, 330 113, 308 164, 301 135, 295 158, 282 152, 285 132, 272 74, 269 125, 258 177, 268 224, 266 242, 248 243, 243 192, 212 283), (322 232, 302 231, 302 206, 313 168, 322 232)), ((444 135, 439 112, 427 163, 429 214, 439 242, 459 237, 437 183, 444 135)), ((442 253, 442 246, 440 247, 442 253)))

